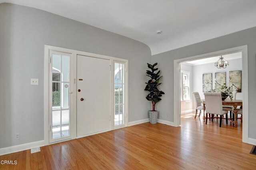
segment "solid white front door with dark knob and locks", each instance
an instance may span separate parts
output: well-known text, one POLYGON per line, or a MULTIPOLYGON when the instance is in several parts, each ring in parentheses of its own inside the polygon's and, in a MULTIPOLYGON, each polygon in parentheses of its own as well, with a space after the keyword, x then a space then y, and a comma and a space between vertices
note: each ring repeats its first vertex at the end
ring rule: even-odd
POLYGON ((110 60, 77 55, 76 135, 110 130, 110 60))

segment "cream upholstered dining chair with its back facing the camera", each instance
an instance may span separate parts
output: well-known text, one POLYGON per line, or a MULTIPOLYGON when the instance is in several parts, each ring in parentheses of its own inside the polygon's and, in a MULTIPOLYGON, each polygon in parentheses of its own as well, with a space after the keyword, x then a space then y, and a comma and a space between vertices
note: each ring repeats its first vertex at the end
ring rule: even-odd
POLYGON ((207 125, 208 113, 212 115, 212 121, 214 118, 220 118, 220 127, 222 125, 222 115, 226 115, 226 124, 228 124, 228 111, 222 109, 221 93, 204 93, 205 105, 206 105, 206 121, 207 125), (220 117, 214 117, 214 114, 220 115, 220 117))

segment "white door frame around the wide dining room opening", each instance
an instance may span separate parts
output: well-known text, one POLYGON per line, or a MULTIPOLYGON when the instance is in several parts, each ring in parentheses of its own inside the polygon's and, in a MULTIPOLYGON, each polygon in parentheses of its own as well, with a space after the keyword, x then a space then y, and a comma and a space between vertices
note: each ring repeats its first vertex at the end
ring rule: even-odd
POLYGON ((174 126, 180 126, 180 63, 193 61, 197 59, 205 59, 219 55, 242 52, 242 100, 243 100, 243 125, 242 125, 242 141, 248 143, 248 52, 247 45, 234 47, 230 49, 215 51, 193 57, 174 60, 174 126))

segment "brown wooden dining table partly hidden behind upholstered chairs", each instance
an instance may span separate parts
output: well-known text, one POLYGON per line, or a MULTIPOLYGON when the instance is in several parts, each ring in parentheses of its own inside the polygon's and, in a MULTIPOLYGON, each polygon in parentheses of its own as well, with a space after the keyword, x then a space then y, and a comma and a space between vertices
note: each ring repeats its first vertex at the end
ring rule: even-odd
MULTIPOLYGON (((206 110, 206 106, 205 106, 205 100, 202 99, 202 104, 203 104, 203 121, 205 121, 206 117, 205 117, 205 110, 206 110)), ((232 119, 230 119, 230 121, 234 124, 234 127, 237 127, 237 107, 240 106, 240 109, 242 109, 243 107, 243 101, 242 100, 230 100, 230 99, 226 99, 226 100, 222 100, 222 106, 233 106, 234 110, 234 121, 232 119)), ((242 116, 242 115, 241 115, 242 116)))

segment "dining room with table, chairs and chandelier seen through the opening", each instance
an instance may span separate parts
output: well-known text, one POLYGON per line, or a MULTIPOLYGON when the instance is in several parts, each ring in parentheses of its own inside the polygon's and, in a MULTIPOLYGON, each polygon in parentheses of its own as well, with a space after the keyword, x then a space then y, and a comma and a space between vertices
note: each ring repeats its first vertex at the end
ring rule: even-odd
POLYGON ((180 73, 181 126, 241 140, 242 52, 180 63, 180 73))

